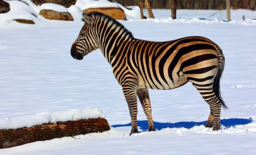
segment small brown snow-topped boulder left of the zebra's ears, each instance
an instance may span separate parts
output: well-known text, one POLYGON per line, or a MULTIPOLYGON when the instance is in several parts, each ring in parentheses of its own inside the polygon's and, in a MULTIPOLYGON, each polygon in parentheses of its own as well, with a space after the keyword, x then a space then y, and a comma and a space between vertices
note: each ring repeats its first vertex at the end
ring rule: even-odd
POLYGON ((72 15, 68 12, 57 12, 53 10, 42 9, 39 14, 46 19, 67 20, 67 21, 73 20, 72 15))

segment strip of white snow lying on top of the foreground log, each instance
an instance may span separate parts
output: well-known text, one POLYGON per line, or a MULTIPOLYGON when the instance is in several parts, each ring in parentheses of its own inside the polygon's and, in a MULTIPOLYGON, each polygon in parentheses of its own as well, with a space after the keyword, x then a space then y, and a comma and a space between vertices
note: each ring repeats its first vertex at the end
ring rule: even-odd
POLYGON ((77 119, 103 118, 100 109, 68 109, 64 111, 53 111, 36 113, 34 115, 23 115, 20 117, 0 118, 0 129, 16 129, 20 127, 32 127, 42 123, 56 123, 57 121, 74 121, 77 119))

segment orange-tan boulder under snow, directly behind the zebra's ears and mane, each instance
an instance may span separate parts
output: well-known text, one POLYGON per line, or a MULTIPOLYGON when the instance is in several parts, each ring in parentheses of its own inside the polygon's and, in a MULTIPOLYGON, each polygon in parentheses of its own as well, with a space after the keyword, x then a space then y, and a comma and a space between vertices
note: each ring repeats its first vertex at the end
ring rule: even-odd
POLYGON ((117 7, 102 7, 102 8, 89 8, 84 10, 84 13, 89 13, 89 12, 100 12, 105 15, 109 15, 110 17, 113 17, 114 19, 121 19, 121 20, 126 20, 125 17, 125 11, 123 9, 117 8, 117 7))

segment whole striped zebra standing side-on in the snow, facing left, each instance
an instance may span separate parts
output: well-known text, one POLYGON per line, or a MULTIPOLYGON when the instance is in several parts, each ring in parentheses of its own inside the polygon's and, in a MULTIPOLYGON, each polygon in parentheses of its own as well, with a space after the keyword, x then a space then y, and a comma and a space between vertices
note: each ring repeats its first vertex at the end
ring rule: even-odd
POLYGON ((220 130, 220 78, 224 70, 221 48, 207 38, 189 36, 167 42, 151 42, 133 37, 115 19, 92 12, 83 14, 84 25, 71 46, 71 56, 82 60, 100 49, 113 68, 123 89, 131 116, 131 134, 137 130, 137 97, 148 119, 148 131, 154 131, 148 89, 174 89, 190 81, 210 105, 205 127, 220 130))

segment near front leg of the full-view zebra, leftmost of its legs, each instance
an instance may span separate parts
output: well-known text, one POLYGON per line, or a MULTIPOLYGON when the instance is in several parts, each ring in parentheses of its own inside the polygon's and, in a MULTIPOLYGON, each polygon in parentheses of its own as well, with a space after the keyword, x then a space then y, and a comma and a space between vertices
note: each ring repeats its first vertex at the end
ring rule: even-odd
POLYGON ((137 130, 137 95, 136 89, 131 89, 129 87, 123 87, 123 94, 127 101, 129 112, 131 115, 131 134, 138 132, 137 130))

